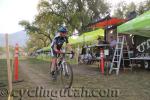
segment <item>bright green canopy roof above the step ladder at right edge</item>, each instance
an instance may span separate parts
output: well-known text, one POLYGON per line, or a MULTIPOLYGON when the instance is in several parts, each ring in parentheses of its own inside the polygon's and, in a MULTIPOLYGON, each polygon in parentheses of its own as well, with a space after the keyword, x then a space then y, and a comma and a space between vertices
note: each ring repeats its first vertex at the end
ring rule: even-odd
POLYGON ((150 37, 150 11, 117 27, 118 33, 150 37))

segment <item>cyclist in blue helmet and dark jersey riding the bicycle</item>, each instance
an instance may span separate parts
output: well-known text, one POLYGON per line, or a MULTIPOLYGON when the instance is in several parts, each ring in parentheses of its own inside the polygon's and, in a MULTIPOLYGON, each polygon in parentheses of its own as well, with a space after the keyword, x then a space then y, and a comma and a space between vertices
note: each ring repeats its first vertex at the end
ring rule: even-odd
POLYGON ((57 35, 54 37, 51 43, 51 55, 52 55, 51 75, 53 80, 56 80, 55 65, 57 61, 57 55, 63 53, 61 48, 64 42, 66 42, 66 47, 69 48, 71 52, 73 52, 71 45, 68 44, 67 29, 65 27, 60 27, 58 29, 57 35))

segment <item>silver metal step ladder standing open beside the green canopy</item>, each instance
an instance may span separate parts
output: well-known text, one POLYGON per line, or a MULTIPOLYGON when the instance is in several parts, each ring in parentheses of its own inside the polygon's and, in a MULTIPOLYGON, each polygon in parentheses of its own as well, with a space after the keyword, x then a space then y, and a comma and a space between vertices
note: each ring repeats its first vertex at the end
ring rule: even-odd
POLYGON ((129 47, 127 45, 127 40, 125 36, 117 36, 117 44, 116 44, 114 56, 112 59, 112 63, 110 66, 109 74, 111 74, 113 70, 116 71, 116 75, 119 74, 121 60, 123 61, 123 68, 125 68, 125 64, 124 64, 125 60, 130 61, 129 47), (125 53, 128 54, 127 55, 128 57, 123 57, 125 53))

